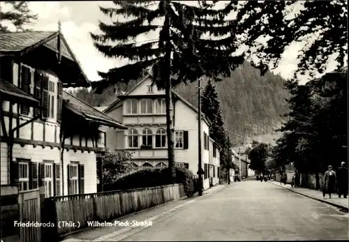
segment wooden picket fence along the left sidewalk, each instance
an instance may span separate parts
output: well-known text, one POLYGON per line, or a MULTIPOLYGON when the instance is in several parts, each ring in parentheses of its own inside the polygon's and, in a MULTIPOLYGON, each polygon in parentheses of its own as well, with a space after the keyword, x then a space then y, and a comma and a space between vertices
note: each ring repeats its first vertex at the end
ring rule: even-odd
POLYGON ((50 197, 45 202, 46 221, 55 225, 50 236, 60 237, 87 227, 87 221, 113 220, 184 196, 184 186, 174 184, 50 197), (80 227, 59 225, 61 221, 79 223, 80 227))

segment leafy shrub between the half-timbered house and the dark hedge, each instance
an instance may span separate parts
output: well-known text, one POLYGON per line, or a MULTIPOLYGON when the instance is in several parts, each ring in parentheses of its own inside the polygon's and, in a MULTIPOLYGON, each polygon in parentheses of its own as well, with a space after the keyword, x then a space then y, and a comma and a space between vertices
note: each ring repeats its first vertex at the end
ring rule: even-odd
MULTIPOLYGON (((105 153, 102 157, 103 163, 103 183, 112 184, 121 176, 133 171, 135 167, 129 162, 131 153, 119 151, 117 153, 105 153)), ((98 169, 100 169, 98 167, 98 169)), ((99 174, 99 170, 97 174, 99 174)))

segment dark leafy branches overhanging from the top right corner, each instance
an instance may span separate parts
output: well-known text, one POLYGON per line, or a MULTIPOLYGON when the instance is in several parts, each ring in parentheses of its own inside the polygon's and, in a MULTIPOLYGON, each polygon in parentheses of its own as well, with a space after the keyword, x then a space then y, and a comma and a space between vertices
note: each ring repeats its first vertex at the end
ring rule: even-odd
POLYGON ((248 46, 247 56, 257 56, 255 66, 262 71, 277 67, 291 43, 303 42, 296 73, 325 73, 332 57, 339 67, 346 64, 347 9, 344 0, 245 1, 235 22, 242 43, 248 46), (266 45, 261 38, 266 38, 266 45))

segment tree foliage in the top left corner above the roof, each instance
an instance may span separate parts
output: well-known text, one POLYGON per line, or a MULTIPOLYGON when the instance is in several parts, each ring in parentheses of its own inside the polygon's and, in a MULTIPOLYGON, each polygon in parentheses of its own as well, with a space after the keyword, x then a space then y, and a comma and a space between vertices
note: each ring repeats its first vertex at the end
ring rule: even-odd
POLYGON ((28 1, 3 1, 0 3, 0 31, 9 31, 6 26, 8 22, 13 24, 16 31, 29 31, 30 29, 26 29, 25 26, 33 24, 38 19, 38 15, 31 13, 28 3, 28 1), (5 11, 4 5, 11 9, 5 11))

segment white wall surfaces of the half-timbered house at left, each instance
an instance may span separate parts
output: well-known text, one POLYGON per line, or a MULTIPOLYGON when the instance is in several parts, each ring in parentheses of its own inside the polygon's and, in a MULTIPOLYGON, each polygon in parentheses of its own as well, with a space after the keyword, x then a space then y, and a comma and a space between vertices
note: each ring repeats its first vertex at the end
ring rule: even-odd
MULTIPOLYGON (((19 86, 21 66, 27 66, 23 63, 13 63, 13 70, 8 70, 13 73, 13 84, 19 86)), ((34 71, 35 69, 31 66, 27 66, 31 71, 31 83, 30 89, 31 94, 34 93, 34 71)), ((50 70, 40 70, 49 77, 49 80, 57 84, 59 82, 57 75, 52 73, 50 70)), ((19 86, 20 87, 20 86, 19 86)), ((56 86, 57 89, 57 86, 56 86)), ((24 116, 19 114, 20 107, 17 104, 11 104, 8 101, 1 100, 1 106, 4 115, 4 125, 6 132, 1 130, 1 185, 10 184, 9 177, 9 162, 8 162, 8 148, 7 143, 4 142, 4 134, 9 134, 10 129, 28 121, 33 117, 33 108, 29 109, 29 114, 24 116)), ((28 123, 19 130, 15 131, 15 144, 13 146, 13 160, 16 158, 30 159, 31 162, 42 162, 43 160, 53 160, 54 163, 60 162, 60 124, 57 123, 57 109, 54 109, 54 119, 36 120, 28 123), (22 144, 22 146, 20 145, 22 144)), ((64 165, 68 165, 70 160, 79 161, 80 164, 84 165, 84 192, 96 192, 96 153, 91 151, 90 153, 84 151, 87 148, 105 148, 104 133, 100 133, 97 144, 92 142, 91 137, 80 137, 74 135, 65 140, 65 144, 68 145, 69 151, 64 151, 64 165), (75 149, 75 151, 73 151, 75 149)), ((66 168, 65 168, 66 169, 66 168)), ((66 182, 66 174, 64 174, 64 184, 68 186, 66 182)), ((67 189, 64 189, 65 195, 67 195, 67 189)))

